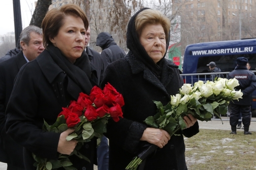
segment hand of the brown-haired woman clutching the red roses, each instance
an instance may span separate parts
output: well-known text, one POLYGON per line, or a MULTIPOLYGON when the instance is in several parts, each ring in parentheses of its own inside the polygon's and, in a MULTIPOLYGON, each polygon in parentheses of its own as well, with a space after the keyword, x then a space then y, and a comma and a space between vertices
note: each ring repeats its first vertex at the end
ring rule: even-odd
POLYGON ((74 129, 67 129, 66 131, 61 133, 60 140, 58 143, 58 148, 57 148, 57 151, 59 153, 70 155, 73 152, 77 144, 77 141, 76 140, 67 141, 66 137, 74 131, 75 131, 74 129))

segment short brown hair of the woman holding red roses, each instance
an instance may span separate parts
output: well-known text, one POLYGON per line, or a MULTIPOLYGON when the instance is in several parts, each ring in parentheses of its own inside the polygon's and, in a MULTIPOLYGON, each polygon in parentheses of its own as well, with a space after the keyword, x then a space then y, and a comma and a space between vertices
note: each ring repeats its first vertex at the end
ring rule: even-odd
POLYGON ((59 9, 53 8, 46 13, 42 22, 44 48, 47 48, 48 44, 52 44, 50 39, 57 36, 60 28, 64 25, 63 20, 68 15, 81 18, 85 29, 88 29, 89 21, 84 11, 78 5, 65 4, 59 9))

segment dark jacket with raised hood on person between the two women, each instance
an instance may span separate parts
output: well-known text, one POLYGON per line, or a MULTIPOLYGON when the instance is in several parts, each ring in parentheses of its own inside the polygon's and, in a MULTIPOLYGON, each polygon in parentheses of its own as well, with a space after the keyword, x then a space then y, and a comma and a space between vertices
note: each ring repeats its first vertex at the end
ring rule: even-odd
POLYGON ((107 32, 98 34, 96 45, 102 48, 101 57, 105 68, 111 62, 124 58, 126 55, 124 50, 114 42, 112 36, 107 32))

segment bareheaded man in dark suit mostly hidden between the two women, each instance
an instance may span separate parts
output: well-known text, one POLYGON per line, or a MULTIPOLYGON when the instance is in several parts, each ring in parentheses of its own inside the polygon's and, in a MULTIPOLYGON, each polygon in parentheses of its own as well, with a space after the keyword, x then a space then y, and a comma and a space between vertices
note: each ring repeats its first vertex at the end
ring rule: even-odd
MULTIPOLYGON (((85 51, 89 57, 89 60, 93 63, 97 72, 97 84, 99 85, 103 79, 104 63, 103 59, 98 52, 88 47, 91 40, 91 28, 86 30, 85 34, 85 51)), ((97 147, 97 162, 98 170, 108 170, 108 140, 105 136, 102 137, 100 145, 97 147)))

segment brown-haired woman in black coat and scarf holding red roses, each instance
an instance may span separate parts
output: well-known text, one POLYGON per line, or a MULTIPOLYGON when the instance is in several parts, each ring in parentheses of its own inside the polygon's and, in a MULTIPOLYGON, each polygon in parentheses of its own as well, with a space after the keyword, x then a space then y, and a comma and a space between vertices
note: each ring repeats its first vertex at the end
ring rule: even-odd
MULTIPOLYGON (((26 170, 36 169, 32 153, 58 159, 60 153, 69 155, 77 144, 65 139, 74 130, 53 133, 43 131, 42 126, 44 120, 52 125, 62 107, 77 100, 80 92, 90 94, 96 76, 84 52, 88 25, 85 13, 77 5, 50 10, 42 22, 45 50, 25 64, 16 77, 5 127, 7 134, 24 146, 26 170)), ((85 143, 80 152, 91 163, 72 155, 69 158, 73 166, 93 170, 95 149, 95 142, 85 143)))

